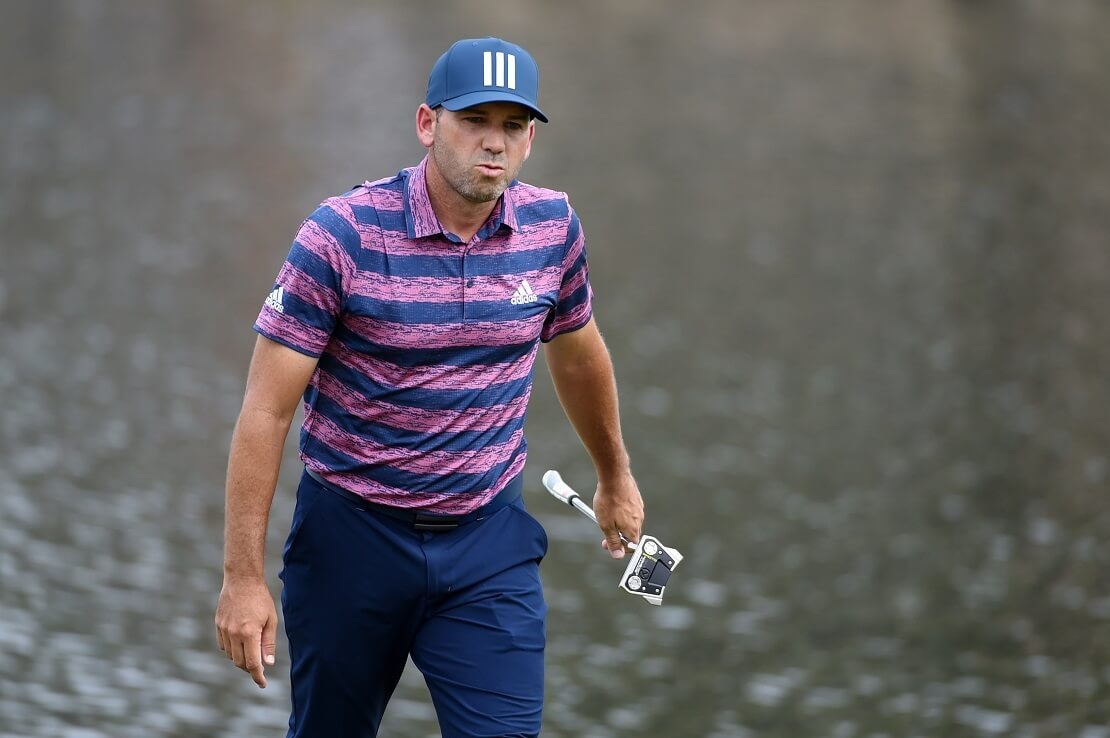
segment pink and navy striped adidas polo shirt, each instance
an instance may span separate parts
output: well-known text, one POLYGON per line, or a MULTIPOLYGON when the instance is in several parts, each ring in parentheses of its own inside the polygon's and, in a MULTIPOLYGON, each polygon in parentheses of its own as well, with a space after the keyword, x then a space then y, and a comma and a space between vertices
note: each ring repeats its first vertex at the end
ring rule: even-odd
POLYGON ((254 330, 319 357, 301 458, 372 502, 481 507, 524 468, 541 341, 591 317, 566 194, 513 182, 470 243, 446 233, 427 159, 325 200, 254 330))

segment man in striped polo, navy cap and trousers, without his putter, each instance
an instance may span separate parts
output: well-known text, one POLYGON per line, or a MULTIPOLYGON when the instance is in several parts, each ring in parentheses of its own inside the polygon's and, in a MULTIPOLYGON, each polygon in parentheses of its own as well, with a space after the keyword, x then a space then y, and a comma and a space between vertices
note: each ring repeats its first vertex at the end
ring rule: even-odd
POLYGON ((416 111, 423 162, 302 224, 261 334, 228 464, 220 648, 264 687, 276 613, 266 522, 299 398, 305 472, 284 549, 289 736, 374 736, 407 657, 443 735, 536 736, 547 538, 521 501, 537 348, 597 471, 603 546, 643 501, 566 195, 516 181, 538 70, 500 39, 453 44, 416 111))

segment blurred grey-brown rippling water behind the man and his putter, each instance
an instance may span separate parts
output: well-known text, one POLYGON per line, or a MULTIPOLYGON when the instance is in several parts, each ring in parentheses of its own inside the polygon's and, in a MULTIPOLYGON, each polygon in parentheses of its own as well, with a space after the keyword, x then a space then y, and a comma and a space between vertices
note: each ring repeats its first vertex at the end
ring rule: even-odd
MULTIPOLYGON (((1110 6, 13 0, 0 26, 0 737, 281 736, 216 649, 251 325, 416 164, 455 39, 543 73, 667 603, 539 485, 544 735, 1110 737, 1110 6)), ((295 437, 295 434, 294 434, 295 437)), ((273 509, 278 592, 297 464, 273 509)), ((437 735, 410 668, 383 736, 437 735)))

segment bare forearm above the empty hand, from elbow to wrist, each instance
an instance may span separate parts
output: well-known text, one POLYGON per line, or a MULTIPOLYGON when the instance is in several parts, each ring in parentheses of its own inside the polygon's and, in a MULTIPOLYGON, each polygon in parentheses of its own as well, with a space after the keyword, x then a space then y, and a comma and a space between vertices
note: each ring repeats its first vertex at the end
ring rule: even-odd
POLYGON ((291 418, 244 407, 228 461, 224 576, 264 574, 266 525, 291 418))

